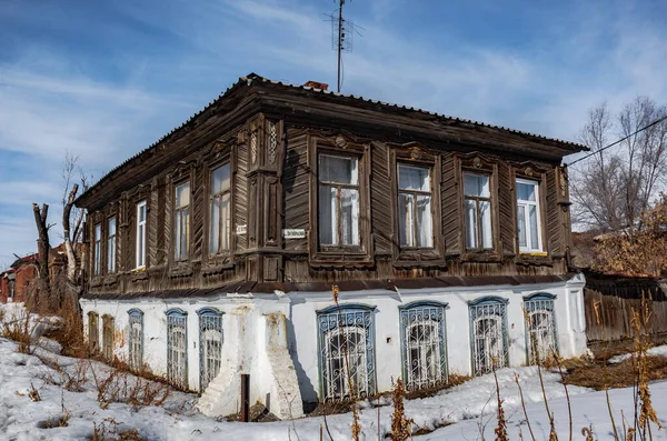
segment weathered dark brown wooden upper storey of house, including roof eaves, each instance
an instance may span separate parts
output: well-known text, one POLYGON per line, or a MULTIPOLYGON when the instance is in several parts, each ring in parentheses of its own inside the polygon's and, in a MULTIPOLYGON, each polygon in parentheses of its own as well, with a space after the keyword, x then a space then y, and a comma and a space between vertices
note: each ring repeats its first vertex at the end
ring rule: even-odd
POLYGON ((563 277, 584 149, 251 74, 78 199, 86 292, 563 277))

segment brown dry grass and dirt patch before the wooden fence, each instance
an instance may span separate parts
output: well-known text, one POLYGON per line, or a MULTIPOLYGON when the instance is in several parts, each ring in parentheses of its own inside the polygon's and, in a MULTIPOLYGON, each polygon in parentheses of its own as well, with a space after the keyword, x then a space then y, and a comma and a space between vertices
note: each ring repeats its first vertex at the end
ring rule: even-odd
MULTIPOLYGON (((648 355, 648 380, 667 379, 667 357, 648 355)), ((628 388, 635 383, 635 367, 633 360, 628 359, 617 364, 607 364, 606 361, 581 361, 578 365, 568 367, 569 374, 566 377, 567 384, 604 390, 607 388, 628 388)))

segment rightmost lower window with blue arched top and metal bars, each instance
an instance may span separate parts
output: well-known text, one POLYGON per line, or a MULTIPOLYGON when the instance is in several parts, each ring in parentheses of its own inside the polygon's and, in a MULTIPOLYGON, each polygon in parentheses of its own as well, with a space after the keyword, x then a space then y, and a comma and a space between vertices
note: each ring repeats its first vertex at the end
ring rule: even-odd
POLYGON ((556 328, 556 311, 554 309, 556 295, 537 293, 524 299, 528 332, 526 347, 528 364, 537 364, 558 354, 558 332, 556 328))

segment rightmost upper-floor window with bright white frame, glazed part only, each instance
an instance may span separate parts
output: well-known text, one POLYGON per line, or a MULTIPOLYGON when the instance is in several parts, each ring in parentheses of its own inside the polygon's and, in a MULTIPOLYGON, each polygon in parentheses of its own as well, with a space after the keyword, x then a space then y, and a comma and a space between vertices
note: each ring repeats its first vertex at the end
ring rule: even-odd
POLYGON ((519 250, 541 252, 541 221, 539 216, 539 182, 517 178, 517 225, 519 250))

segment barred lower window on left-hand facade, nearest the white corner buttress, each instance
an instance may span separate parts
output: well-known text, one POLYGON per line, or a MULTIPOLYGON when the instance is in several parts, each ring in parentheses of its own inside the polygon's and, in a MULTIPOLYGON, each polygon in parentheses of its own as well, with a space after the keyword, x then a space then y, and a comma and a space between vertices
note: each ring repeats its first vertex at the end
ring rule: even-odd
POLYGON ((199 315, 199 390, 203 391, 220 373, 222 364, 222 312, 202 308, 199 315))

